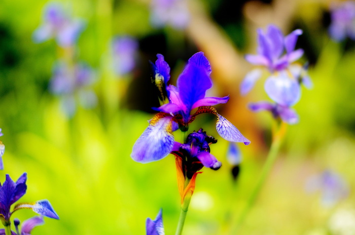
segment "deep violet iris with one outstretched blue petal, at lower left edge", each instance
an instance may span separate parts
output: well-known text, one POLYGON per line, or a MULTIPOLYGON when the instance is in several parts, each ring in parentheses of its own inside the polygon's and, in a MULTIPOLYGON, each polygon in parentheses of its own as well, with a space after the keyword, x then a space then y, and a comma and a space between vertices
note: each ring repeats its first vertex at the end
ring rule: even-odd
POLYGON ((27 174, 23 173, 16 182, 8 174, 6 180, 0 184, 0 220, 5 226, 10 225, 11 215, 19 209, 31 209, 34 212, 49 218, 59 219, 57 213, 48 200, 40 200, 33 203, 19 203, 11 211, 11 205, 18 201, 27 190, 27 174))

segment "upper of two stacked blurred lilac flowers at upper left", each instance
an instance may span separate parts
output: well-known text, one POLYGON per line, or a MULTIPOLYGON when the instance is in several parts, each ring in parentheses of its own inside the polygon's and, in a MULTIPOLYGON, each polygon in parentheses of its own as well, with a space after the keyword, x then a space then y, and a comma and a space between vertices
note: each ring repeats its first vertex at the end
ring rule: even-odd
POLYGON ((33 32, 33 40, 37 43, 55 37, 62 47, 73 46, 85 23, 81 19, 71 19, 58 3, 50 3, 44 12, 43 24, 33 32))

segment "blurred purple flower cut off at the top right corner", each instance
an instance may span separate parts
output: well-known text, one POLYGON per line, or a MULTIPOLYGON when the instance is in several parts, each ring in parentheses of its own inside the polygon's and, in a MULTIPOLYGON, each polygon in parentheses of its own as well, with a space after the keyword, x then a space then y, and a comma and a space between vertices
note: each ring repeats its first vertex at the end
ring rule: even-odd
POLYGON ((349 37, 355 40, 355 2, 344 1, 331 6, 330 36, 336 40, 344 40, 349 37))

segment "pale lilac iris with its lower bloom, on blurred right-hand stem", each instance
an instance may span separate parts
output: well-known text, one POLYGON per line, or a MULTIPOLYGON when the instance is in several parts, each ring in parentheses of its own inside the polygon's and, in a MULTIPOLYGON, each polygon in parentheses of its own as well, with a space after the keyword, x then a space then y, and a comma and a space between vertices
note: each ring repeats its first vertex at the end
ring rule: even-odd
MULTIPOLYGON (((301 96, 300 84, 311 87, 306 67, 294 63, 303 55, 303 50, 295 50, 298 36, 302 30, 296 29, 287 36, 275 25, 269 25, 266 32, 258 30, 258 54, 246 55, 245 59, 254 64, 267 68, 270 76, 265 81, 265 91, 273 100, 251 104, 253 111, 267 110, 275 118, 281 118, 290 124, 298 122, 296 112, 291 108, 301 96)), ((254 69, 249 72, 241 83, 240 91, 246 95, 261 77, 262 70, 254 69)))

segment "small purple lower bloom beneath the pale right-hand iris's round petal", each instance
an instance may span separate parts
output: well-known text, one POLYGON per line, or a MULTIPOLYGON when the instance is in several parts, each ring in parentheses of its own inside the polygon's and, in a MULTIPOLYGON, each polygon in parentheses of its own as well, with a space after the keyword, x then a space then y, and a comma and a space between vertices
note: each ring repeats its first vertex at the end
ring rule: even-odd
POLYGON ((279 105, 277 103, 261 101, 250 104, 249 108, 254 112, 269 111, 275 119, 281 118, 282 121, 289 124, 295 124, 298 122, 297 113, 287 105, 279 105))

